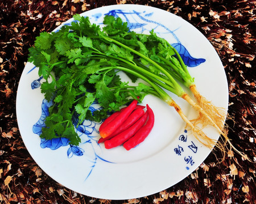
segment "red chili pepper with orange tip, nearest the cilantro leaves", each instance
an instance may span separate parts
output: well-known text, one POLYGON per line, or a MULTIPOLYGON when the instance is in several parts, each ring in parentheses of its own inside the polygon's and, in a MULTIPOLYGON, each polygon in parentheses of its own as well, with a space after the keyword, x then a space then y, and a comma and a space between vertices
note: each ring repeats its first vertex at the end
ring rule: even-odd
POLYGON ((102 130, 100 131, 101 137, 106 138, 109 135, 113 134, 114 131, 117 130, 118 127, 122 125, 122 123, 127 119, 127 117, 129 117, 131 112, 134 111, 137 103, 137 100, 133 100, 133 102, 131 102, 131 104, 125 110, 119 113, 118 116, 115 117, 112 121, 110 121, 107 126, 102 128, 102 130))

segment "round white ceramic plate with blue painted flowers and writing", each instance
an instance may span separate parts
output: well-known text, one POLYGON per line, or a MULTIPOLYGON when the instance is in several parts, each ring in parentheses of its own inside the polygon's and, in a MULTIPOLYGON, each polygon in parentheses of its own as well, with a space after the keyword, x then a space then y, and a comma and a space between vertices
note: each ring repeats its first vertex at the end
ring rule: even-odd
MULTIPOLYGON (((198 90, 218 107, 228 108, 228 86, 220 58, 195 27, 170 12, 141 5, 106 6, 81 15, 89 16, 92 23, 102 24, 106 14, 126 20, 135 32, 154 29, 171 44, 182 45, 179 48, 183 50, 179 52, 189 59, 192 67, 188 69, 195 77, 198 90)), ((149 104, 155 113, 154 129, 141 145, 130 151, 123 147, 106 150, 103 144, 97 145, 100 124, 90 121, 85 121, 77 129, 82 139, 79 147, 68 145, 65 139, 41 140, 38 134, 49 105, 40 93, 41 82, 38 69, 27 63, 16 99, 20 134, 40 168, 52 179, 78 193, 104 199, 148 196, 183 180, 210 153, 186 132, 185 123, 175 109, 153 96, 145 97, 143 104, 149 104)), ((171 96, 189 118, 196 117, 183 99, 171 96)), ((94 104, 93 108, 99 107, 94 104)), ((205 132, 212 138, 219 137, 213 129, 205 129, 205 132)))

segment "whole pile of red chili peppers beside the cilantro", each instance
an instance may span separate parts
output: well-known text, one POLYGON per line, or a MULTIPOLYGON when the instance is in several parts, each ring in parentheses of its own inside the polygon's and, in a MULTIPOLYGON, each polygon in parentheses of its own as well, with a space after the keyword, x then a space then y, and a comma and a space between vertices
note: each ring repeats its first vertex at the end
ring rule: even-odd
POLYGON ((106 118, 99 129, 101 138, 98 143, 105 142, 107 149, 123 145, 130 150, 143 142, 155 122, 152 109, 146 105, 144 112, 144 108, 133 100, 129 106, 106 118))

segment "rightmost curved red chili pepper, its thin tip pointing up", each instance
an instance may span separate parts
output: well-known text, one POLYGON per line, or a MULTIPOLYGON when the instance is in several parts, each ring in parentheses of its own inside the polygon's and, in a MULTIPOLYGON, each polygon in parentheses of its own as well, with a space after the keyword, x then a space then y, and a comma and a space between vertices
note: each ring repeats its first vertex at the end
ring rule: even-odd
POLYGON ((147 135, 150 134, 150 131, 154 126, 155 116, 152 109, 148 105, 147 105, 147 112, 148 112, 148 120, 146 124, 142 126, 142 128, 139 129, 133 137, 131 137, 127 142, 123 144, 123 147, 125 147, 126 150, 130 150, 131 148, 139 145, 139 143, 143 142, 144 139, 147 137, 147 135))

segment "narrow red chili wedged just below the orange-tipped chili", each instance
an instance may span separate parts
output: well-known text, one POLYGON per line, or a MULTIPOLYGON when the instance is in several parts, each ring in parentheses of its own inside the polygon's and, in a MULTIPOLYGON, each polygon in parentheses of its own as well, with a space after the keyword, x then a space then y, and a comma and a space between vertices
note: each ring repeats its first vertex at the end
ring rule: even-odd
MULTIPOLYGON (((138 105, 137 105, 138 107, 138 105)), ((114 114, 114 113, 113 113, 114 114)), ((101 142, 105 142, 108 139, 113 138, 115 135, 121 133, 122 131, 126 130, 127 128, 130 128, 131 125, 133 125, 136 121, 139 120, 139 118, 141 118, 144 114, 144 111, 142 108, 136 108, 131 114, 130 116, 127 118, 127 120, 125 122, 123 122, 123 124, 117 129, 117 131, 115 131, 112 135, 109 135, 109 137, 106 138, 100 138, 98 140, 98 143, 101 142)))

